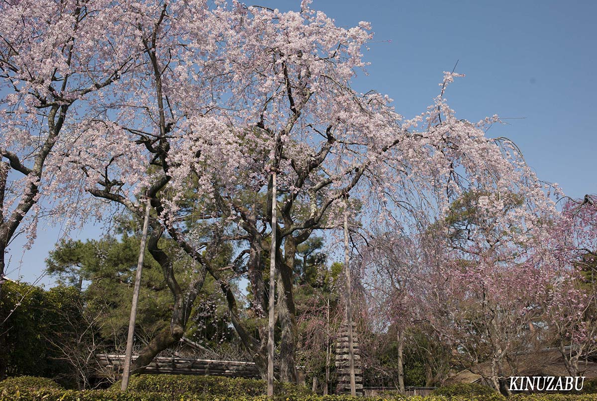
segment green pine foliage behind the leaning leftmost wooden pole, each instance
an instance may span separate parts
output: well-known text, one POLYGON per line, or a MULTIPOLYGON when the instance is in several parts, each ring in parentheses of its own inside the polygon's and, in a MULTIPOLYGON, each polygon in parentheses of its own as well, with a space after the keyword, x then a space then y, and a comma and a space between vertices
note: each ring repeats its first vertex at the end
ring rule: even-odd
MULTIPOLYGON (((139 238, 122 233, 120 239, 62 241, 50 252, 48 272, 60 282, 87 284, 85 297, 91 307, 106 311, 100 319, 106 338, 125 338, 130 315, 134 274, 139 258, 139 238)), ((78 284, 77 284, 78 285, 78 284)), ((137 335, 151 338, 170 321, 172 295, 165 287, 159 265, 147 254, 137 311, 137 335)))

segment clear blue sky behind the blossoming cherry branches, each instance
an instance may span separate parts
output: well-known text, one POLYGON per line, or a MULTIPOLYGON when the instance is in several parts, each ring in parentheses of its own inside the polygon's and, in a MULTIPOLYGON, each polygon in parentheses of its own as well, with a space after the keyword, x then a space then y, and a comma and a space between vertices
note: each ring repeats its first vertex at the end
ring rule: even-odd
MULTIPOLYGON (((248 4, 300 8, 300 0, 248 4)), ((459 60, 456 72, 466 78, 446 94, 459 118, 524 118, 494 125, 488 135, 514 140, 538 176, 559 183, 567 195, 597 192, 597 2, 315 0, 312 8, 343 27, 371 22, 375 35, 364 54, 371 66, 368 76, 356 79, 357 90, 390 95, 396 110, 411 118, 431 104, 442 72, 459 60)), ((100 232, 90 225, 72 236, 100 232)), ((15 240, 8 276, 33 282, 58 236, 42 227, 24 253, 15 240)))

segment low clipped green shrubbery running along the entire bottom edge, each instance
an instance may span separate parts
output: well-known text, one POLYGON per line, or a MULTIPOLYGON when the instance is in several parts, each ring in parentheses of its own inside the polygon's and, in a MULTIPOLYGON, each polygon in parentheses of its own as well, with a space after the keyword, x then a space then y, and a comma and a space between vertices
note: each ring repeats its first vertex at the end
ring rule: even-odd
MULTIPOLYGON (((491 388, 449 385, 427 397, 360 397, 361 401, 504 401, 491 388)), ((64 390, 47 378, 17 377, 0 382, 0 401, 268 401, 262 380, 184 375, 139 375, 129 391, 115 383, 108 390, 64 390)), ((273 401, 353 401, 350 396, 317 396, 307 388, 278 384, 273 401)), ((597 394, 517 394, 508 401, 597 401, 597 394)))

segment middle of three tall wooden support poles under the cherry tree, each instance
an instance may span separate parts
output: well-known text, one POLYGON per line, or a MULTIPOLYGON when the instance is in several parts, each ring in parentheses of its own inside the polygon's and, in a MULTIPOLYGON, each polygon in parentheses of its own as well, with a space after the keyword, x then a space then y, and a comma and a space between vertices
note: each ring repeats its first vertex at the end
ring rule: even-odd
POLYGON ((272 172, 272 248, 269 254, 269 319, 267 322, 267 396, 273 396, 273 328, 276 285, 276 172, 272 172))

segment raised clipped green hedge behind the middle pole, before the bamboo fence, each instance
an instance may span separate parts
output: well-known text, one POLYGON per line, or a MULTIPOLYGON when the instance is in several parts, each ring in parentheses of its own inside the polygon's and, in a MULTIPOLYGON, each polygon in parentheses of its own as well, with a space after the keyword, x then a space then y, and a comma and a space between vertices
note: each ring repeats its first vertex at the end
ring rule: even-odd
MULTIPOLYGON (((111 388, 120 389, 118 381, 111 388)), ((136 375, 128 382, 130 391, 165 394, 205 394, 221 397, 263 396, 267 394, 265 381, 219 376, 136 375)), ((313 393, 304 386, 275 383, 275 394, 303 397, 313 393)))

